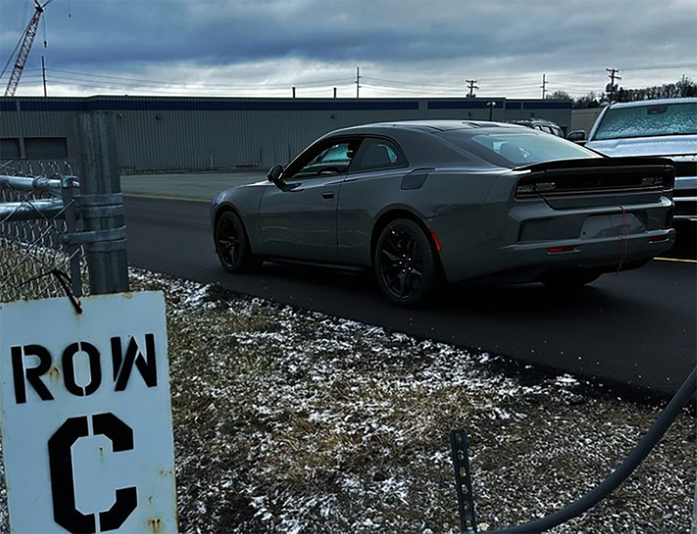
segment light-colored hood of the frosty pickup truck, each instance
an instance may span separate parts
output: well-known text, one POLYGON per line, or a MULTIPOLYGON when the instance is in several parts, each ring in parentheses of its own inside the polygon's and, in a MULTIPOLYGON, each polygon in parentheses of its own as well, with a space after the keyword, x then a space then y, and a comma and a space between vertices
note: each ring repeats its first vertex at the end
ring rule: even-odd
POLYGON ((589 141, 585 144, 611 157, 628 155, 686 155, 697 153, 697 135, 666 135, 589 141))

